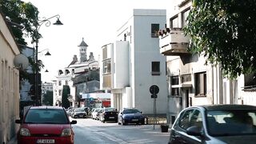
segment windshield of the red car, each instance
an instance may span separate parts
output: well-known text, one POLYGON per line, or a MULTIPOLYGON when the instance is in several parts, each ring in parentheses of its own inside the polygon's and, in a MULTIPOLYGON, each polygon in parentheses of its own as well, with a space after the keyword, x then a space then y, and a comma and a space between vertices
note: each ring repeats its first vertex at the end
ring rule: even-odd
POLYGON ((64 110, 30 109, 24 123, 68 124, 69 120, 64 110))

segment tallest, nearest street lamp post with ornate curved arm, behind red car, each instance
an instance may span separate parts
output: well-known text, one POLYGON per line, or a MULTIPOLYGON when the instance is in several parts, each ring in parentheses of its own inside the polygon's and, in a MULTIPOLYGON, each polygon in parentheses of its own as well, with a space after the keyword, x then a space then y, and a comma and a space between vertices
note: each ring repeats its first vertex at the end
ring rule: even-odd
POLYGON ((46 26, 50 26, 50 19, 51 18, 57 18, 57 21, 54 23, 54 25, 63 25, 62 22, 59 21, 60 16, 54 15, 50 18, 43 18, 43 20, 38 20, 38 22, 35 25, 35 79, 34 79, 34 87, 35 87, 35 92, 34 92, 34 96, 35 96, 35 105, 36 106, 41 106, 41 95, 39 96, 39 91, 38 91, 38 86, 39 86, 39 82, 38 82, 38 74, 39 74, 39 70, 38 70, 38 40, 40 38, 39 35, 39 30, 40 27, 42 26, 42 24, 46 24, 46 26))

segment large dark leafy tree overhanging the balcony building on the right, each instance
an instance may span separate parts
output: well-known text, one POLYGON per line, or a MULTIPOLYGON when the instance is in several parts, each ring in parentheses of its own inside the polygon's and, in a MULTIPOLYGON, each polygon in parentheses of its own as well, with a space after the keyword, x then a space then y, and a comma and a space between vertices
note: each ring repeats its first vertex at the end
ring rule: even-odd
POLYGON ((193 0, 183 30, 190 52, 220 64, 227 77, 256 72, 256 0, 193 0))

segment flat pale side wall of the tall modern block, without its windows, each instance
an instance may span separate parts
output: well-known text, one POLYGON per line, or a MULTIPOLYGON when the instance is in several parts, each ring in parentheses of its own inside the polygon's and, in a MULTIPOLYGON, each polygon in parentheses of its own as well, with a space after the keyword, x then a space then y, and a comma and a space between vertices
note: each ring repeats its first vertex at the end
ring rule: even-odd
MULTIPOLYGON (((117 40, 130 43, 129 78, 131 106, 153 114, 150 86, 158 85, 157 113, 167 112, 166 58, 159 54, 158 38, 151 38, 151 24, 166 24, 166 10, 133 10, 132 17, 118 30, 117 40), (160 75, 151 74, 151 62, 160 62, 160 75)), ((126 96, 123 96, 127 100, 126 96)), ((122 99, 122 101, 124 101, 122 99)), ((124 102, 127 103, 127 102, 124 102)))

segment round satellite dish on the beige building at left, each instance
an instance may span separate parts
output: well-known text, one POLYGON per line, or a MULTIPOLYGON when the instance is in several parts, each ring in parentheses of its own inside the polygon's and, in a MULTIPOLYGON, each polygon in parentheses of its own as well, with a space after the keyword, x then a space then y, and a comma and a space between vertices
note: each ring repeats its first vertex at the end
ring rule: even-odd
POLYGON ((29 66, 29 59, 24 54, 18 54, 14 57, 14 66, 21 70, 26 70, 29 66))

